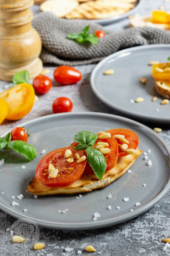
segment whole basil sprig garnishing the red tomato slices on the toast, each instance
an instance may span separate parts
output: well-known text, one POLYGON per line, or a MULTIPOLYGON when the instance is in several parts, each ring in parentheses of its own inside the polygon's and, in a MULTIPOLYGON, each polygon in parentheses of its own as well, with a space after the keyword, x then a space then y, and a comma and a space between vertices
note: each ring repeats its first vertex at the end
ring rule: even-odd
POLYGON ((75 147, 75 149, 86 149, 87 162, 90 164, 97 178, 101 179, 106 170, 107 164, 103 154, 95 148, 92 148, 96 140, 97 135, 89 131, 77 132, 74 136, 74 141, 80 143, 75 147))

